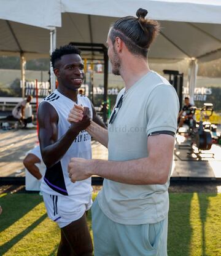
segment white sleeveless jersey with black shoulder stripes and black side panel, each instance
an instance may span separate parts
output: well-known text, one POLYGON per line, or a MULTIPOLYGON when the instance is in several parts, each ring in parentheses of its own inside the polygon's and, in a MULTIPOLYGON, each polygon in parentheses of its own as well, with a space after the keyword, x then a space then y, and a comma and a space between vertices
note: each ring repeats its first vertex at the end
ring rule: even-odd
MULTIPOLYGON (((63 136, 70 127, 68 122, 69 111, 73 108, 74 103, 70 98, 64 96, 58 90, 48 95, 43 102, 50 103, 58 113, 58 140, 63 136)), ((92 118, 92 108, 90 100, 84 95, 77 95, 77 104, 82 104, 90 109, 92 118)), ((74 142, 69 147, 63 158, 54 166, 47 168, 44 179, 42 180, 41 190, 45 193, 58 195, 80 195, 82 199, 89 196, 92 191, 91 178, 80 182, 72 183, 68 177, 68 164, 71 158, 91 159, 91 136, 85 130, 77 135, 74 142)))

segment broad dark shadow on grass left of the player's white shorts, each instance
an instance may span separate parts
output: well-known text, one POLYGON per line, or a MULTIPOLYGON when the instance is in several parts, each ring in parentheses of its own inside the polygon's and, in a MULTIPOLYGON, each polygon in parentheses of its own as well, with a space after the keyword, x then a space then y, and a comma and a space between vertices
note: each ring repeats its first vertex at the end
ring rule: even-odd
POLYGON ((39 194, 7 194, 0 198, 3 212, 0 218, 0 233, 20 220, 25 214, 42 202, 39 194))

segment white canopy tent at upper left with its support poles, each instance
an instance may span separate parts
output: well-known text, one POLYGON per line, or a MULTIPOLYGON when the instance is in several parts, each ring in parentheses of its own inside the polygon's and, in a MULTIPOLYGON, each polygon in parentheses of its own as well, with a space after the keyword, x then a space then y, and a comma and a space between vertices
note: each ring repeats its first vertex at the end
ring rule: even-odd
MULTIPOLYGON (((29 50, 29 42, 33 40, 37 45, 37 32, 44 34, 50 30, 50 41, 53 42, 50 45, 50 50, 55 49, 55 27, 61 26, 60 2, 53 0, 32 0, 31 2, 29 0, 1 0, 0 4, 0 54, 20 55, 22 95, 24 97, 26 57, 39 57, 39 51, 29 50), (35 33, 33 39, 29 38, 29 40, 23 41, 23 35, 29 37, 33 30, 35 33), (26 56, 27 52, 28 56, 26 56)), ((52 82, 55 83, 53 76, 52 82)))

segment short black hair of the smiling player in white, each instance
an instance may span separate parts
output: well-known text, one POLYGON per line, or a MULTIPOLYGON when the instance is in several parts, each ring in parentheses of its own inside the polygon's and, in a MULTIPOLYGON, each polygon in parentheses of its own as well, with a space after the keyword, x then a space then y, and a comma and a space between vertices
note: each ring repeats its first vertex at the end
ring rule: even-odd
POLYGON ((63 55, 67 54, 78 54, 80 55, 80 50, 73 46, 72 44, 66 44, 65 46, 61 46, 60 48, 56 48, 50 57, 50 61, 52 62, 52 67, 55 68, 55 62, 60 60, 63 55))

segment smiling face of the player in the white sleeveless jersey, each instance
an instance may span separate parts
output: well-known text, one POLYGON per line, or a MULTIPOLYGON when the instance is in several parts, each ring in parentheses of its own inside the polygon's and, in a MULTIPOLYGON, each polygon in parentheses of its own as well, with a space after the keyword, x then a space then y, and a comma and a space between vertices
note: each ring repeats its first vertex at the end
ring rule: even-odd
POLYGON ((56 63, 54 73, 59 86, 70 90, 79 89, 84 78, 82 58, 78 54, 63 55, 56 63))

